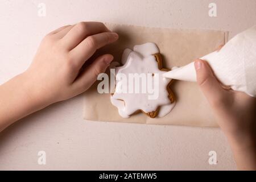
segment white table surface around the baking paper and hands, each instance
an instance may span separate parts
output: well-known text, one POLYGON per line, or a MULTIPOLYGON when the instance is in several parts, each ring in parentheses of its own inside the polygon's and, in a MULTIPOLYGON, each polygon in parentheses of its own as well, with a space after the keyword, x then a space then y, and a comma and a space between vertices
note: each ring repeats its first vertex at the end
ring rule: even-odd
MULTIPOLYGON (((86 20, 150 27, 227 30, 256 24, 254 0, 1 0, 0 84, 24 71, 47 32, 86 20), (47 7, 38 16, 38 4, 47 7), (217 4, 210 18, 208 5, 217 4)), ((52 105, 0 134, 0 169, 236 169, 220 129, 89 122, 82 97, 52 105), (208 152, 218 163, 209 165, 208 152), (46 151, 47 164, 38 164, 46 151)))

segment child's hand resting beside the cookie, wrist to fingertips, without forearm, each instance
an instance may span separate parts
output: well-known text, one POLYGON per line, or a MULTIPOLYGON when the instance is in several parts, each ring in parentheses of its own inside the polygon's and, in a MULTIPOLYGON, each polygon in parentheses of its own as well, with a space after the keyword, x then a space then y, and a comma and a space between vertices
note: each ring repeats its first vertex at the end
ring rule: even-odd
POLYGON ((37 97, 52 104, 85 92, 98 74, 105 72, 113 56, 102 55, 80 72, 82 65, 98 48, 117 39, 116 33, 98 22, 65 26, 48 34, 25 73, 34 82, 37 97))

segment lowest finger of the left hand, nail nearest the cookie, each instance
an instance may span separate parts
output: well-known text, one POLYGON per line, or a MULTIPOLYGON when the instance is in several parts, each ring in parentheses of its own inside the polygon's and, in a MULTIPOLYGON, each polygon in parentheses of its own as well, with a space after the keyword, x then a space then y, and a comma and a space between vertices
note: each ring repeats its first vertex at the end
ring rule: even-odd
POLYGON ((104 73, 112 61, 113 56, 109 54, 98 57, 73 83, 74 88, 79 90, 80 93, 89 89, 97 80, 98 75, 100 75, 100 73, 104 73))

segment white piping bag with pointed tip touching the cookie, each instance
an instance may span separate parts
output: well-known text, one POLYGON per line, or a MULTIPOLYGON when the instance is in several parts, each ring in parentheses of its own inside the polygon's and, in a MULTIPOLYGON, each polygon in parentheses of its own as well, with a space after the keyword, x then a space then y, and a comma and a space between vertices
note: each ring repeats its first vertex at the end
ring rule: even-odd
MULTIPOLYGON (((234 36, 220 51, 209 53, 200 59, 208 61, 222 84, 256 97, 256 26, 234 36)), ((194 63, 172 69, 163 76, 195 82, 194 63)))

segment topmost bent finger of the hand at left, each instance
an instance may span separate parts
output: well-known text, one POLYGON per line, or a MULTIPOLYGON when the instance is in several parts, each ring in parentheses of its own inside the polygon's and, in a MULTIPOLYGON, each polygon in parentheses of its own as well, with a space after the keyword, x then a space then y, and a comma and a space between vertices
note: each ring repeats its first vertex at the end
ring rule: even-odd
POLYGON ((76 24, 63 38, 64 45, 69 50, 75 48, 87 36, 110 32, 103 23, 100 22, 81 22, 76 24))

